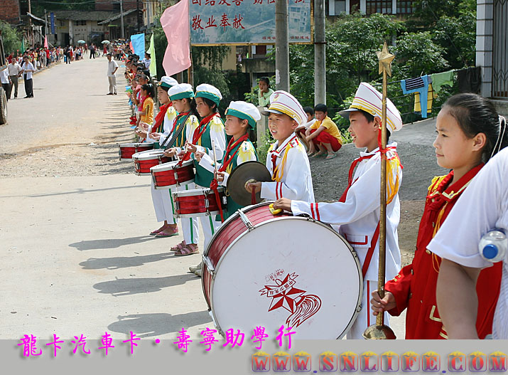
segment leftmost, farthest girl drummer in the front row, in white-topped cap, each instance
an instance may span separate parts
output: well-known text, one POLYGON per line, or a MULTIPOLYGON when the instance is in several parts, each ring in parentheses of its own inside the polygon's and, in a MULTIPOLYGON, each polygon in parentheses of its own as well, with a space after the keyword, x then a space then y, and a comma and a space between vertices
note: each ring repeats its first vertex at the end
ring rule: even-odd
MULTIPOLYGON (((161 78, 157 90, 157 96, 159 102, 161 102, 161 107, 159 108, 155 121, 153 125, 149 125, 146 129, 136 132, 141 138, 146 139, 148 143, 158 142, 158 144, 165 145, 171 140, 171 129, 177 113, 173 105, 171 105, 171 100, 169 100, 168 90, 174 85, 178 85, 178 82, 174 78, 166 76, 161 78), (168 139, 168 137, 170 137, 170 139, 168 139)), ((164 222, 161 228, 150 233, 151 236, 178 236, 178 225, 173 217, 173 196, 171 194, 171 189, 156 190, 152 180, 151 196, 157 221, 164 222)))

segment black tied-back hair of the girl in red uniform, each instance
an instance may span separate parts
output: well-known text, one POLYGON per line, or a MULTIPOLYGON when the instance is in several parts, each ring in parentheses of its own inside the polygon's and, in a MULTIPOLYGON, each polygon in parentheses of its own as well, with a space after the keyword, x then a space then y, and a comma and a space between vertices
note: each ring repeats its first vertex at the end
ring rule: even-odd
POLYGON ((466 137, 485 134, 487 141, 482 149, 483 162, 488 162, 499 149, 508 146, 506 120, 499 117, 492 102, 485 97, 472 93, 453 95, 446 100, 443 110, 457 120, 466 137))

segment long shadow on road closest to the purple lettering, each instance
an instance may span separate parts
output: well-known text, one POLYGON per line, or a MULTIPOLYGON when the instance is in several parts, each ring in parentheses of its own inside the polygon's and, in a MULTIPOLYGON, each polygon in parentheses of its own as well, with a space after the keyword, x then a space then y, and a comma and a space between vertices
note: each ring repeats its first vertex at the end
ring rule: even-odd
POLYGON ((182 327, 212 322, 206 311, 188 312, 186 314, 135 314, 118 317, 118 322, 109 324, 109 331, 124 333, 129 336, 130 332, 136 337, 153 337, 171 332, 178 332, 182 327))

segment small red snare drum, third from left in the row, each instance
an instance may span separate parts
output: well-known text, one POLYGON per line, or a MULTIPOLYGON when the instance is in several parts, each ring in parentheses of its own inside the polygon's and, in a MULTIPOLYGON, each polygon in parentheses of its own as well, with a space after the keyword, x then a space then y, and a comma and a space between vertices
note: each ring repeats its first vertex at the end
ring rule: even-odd
POLYGON ((182 165, 178 163, 178 160, 175 160, 150 169, 156 189, 173 189, 176 186, 194 182, 194 162, 187 160, 182 165))

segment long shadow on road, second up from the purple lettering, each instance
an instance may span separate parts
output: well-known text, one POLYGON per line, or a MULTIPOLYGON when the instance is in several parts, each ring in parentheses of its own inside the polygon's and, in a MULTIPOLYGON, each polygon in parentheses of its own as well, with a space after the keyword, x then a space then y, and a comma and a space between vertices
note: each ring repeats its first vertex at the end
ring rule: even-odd
POLYGON ((175 285, 183 285, 190 280, 200 280, 194 274, 171 275, 162 278, 129 278, 111 281, 97 282, 94 289, 99 293, 110 294, 114 297, 124 295, 136 295, 139 293, 159 292, 164 287, 173 287, 175 285))

